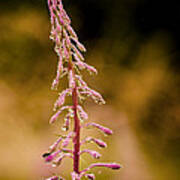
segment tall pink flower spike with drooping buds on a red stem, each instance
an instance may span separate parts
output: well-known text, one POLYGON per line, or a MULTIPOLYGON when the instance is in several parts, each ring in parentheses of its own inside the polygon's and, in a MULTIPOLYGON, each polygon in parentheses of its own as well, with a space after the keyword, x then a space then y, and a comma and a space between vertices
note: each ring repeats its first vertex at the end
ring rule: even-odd
MULTIPOLYGON (((78 36, 71 27, 71 20, 63 8, 62 0, 48 0, 48 8, 50 12, 51 34, 50 39, 55 43, 55 52, 58 56, 58 66, 56 78, 53 81, 52 89, 57 90, 59 80, 62 77, 68 78, 68 87, 59 93, 59 97, 54 104, 55 114, 51 117, 50 123, 55 123, 62 112, 66 112, 64 117, 64 125, 62 129, 66 131, 66 135, 61 135, 49 147, 48 152, 43 154, 45 162, 52 163, 53 167, 61 164, 64 158, 71 158, 73 161, 72 180, 80 180, 82 177, 94 180, 95 175, 90 171, 94 167, 106 167, 110 169, 120 169, 121 166, 116 163, 93 163, 89 167, 80 170, 80 156, 88 153, 95 159, 99 159, 101 154, 90 149, 81 150, 81 146, 93 142, 101 148, 107 147, 107 144, 100 139, 94 137, 86 137, 80 140, 81 128, 96 128, 105 135, 111 135, 113 132, 107 127, 94 122, 84 124, 84 120, 88 119, 87 113, 81 106, 87 97, 92 98, 98 104, 105 104, 101 94, 88 87, 83 80, 81 71, 87 70, 90 74, 97 74, 97 70, 84 62, 82 52, 85 47, 79 42, 78 36), (72 104, 65 104, 66 97, 72 98, 72 104), (70 125, 73 124, 71 127, 70 125), (72 130, 71 130, 72 129, 72 130), (72 142, 73 148, 68 149, 68 145, 72 142)), ((64 179, 59 175, 47 178, 47 180, 64 179)))

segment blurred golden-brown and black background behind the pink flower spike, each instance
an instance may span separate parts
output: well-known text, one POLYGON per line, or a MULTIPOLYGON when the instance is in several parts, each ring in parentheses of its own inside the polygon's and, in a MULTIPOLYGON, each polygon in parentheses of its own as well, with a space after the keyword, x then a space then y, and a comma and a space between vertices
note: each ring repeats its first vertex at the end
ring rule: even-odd
MULTIPOLYGON (((90 121, 114 130, 100 180, 180 179, 180 3, 155 0, 64 0, 98 76, 86 79, 107 104, 88 101, 90 121)), ((45 0, 0 1, 0 180, 70 179, 71 161, 55 171, 42 154, 61 121, 49 126, 57 92, 50 90, 57 57, 49 40, 45 0)), ((62 87, 65 83, 62 81, 62 87)), ((84 132, 87 133, 87 132, 84 132)), ((97 149, 92 145, 94 149, 97 149)), ((82 167, 92 159, 83 156, 82 167)))

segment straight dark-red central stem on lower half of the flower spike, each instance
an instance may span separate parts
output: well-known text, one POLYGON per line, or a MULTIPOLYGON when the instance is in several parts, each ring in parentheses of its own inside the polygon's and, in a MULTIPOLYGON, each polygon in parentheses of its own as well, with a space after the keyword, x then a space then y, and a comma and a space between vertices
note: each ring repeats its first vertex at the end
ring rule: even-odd
POLYGON ((79 152, 80 152, 80 122, 77 115, 77 106, 78 106, 78 95, 77 87, 73 89, 72 93, 73 100, 73 109, 74 109, 74 151, 73 151, 73 161, 74 161, 74 171, 79 174, 79 152))

